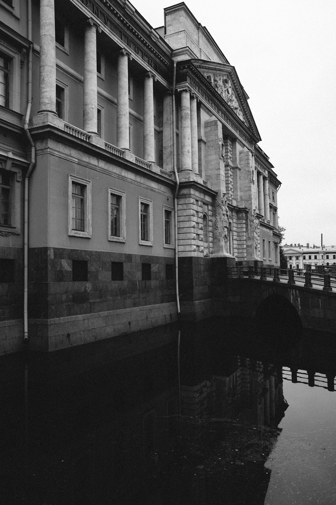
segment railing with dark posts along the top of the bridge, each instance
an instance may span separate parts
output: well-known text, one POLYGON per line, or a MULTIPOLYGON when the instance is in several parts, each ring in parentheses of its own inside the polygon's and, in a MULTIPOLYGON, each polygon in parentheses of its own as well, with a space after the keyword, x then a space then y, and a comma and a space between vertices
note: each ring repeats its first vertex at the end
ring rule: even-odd
MULTIPOLYGON (((333 267, 332 267, 333 268, 333 267)), ((333 273, 329 268, 314 268, 307 266, 307 270, 296 270, 292 268, 281 269, 276 267, 255 267, 253 265, 237 265, 228 267, 229 277, 250 279, 260 279, 262 281, 287 282, 288 284, 303 284, 304 287, 318 287, 323 291, 332 291, 336 288, 336 272, 333 273)))

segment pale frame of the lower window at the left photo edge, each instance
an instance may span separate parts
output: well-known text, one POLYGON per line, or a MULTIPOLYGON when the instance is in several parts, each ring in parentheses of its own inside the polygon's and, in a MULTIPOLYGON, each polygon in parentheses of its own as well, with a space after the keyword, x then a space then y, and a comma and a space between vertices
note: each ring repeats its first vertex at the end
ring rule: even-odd
POLYGON ((0 160, 0 168, 8 170, 11 174, 11 209, 10 224, 0 224, 0 236, 7 234, 19 235, 21 233, 21 182, 22 171, 20 167, 12 165, 12 160, 0 160))

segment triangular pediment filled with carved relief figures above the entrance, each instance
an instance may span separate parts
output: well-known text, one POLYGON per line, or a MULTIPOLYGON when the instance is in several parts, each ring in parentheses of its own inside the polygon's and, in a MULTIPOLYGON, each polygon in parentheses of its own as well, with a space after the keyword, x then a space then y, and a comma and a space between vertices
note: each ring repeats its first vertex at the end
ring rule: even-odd
POLYGON ((260 139, 251 110, 248 95, 241 85, 234 67, 205 60, 192 60, 192 64, 224 99, 238 118, 260 139))

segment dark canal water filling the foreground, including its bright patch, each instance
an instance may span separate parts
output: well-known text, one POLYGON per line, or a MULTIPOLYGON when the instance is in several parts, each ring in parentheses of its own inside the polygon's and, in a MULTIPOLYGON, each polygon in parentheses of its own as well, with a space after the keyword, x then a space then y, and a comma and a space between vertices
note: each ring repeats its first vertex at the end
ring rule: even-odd
POLYGON ((0 503, 332 505, 335 347, 212 321, 0 358, 0 503))

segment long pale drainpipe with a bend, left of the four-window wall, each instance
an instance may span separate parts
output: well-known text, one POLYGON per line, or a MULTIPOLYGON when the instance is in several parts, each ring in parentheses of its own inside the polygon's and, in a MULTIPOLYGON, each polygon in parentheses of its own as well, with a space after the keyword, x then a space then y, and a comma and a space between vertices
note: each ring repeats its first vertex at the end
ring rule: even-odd
POLYGON ((35 144, 28 130, 30 111, 32 107, 32 65, 33 65, 33 43, 32 43, 32 2, 28 0, 28 105, 25 119, 25 132, 31 145, 31 162, 25 177, 25 225, 24 225, 24 293, 23 293, 23 327, 24 341, 28 342, 28 179, 35 165, 35 144))

